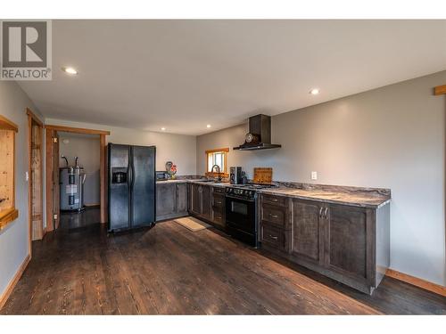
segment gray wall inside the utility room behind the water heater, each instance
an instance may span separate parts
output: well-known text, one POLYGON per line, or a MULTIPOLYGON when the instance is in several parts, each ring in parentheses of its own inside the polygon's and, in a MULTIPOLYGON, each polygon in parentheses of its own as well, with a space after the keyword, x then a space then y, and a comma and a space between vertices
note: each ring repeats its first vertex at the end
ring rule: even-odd
MULTIPOLYGON (((84 167, 86 173, 84 203, 86 205, 97 205, 101 202, 100 148, 98 134, 59 133, 59 154, 67 157, 70 165, 74 165, 74 157, 78 157, 78 165, 84 167)), ((65 159, 60 159, 59 166, 65 166, 65 159)))

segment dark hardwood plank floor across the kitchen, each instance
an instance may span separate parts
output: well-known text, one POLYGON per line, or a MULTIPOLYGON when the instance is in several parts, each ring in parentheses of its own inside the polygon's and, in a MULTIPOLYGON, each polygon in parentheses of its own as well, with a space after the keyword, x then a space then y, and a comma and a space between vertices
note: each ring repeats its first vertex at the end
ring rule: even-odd
POLYGON ((1 314, 446 314, 446 298, 384 278, 373 296, 173 222, 108 236, 99 211, 61 216, 1 314), (74 227, 74 228, 73 228, 74 227))

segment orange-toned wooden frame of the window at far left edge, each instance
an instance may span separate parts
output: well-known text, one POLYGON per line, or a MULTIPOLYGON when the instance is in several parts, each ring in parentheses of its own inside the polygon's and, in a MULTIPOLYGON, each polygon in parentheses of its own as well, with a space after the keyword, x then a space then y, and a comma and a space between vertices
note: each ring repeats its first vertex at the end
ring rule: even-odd
POLYGON ((10 131, 12 133, 12 190, 10 191, 11 199, 10 199, 10 207, 4 208, 0 210, 0 231, 4 229, 8 224, 12 223, 15 219, 19 217, 19 210, 15 208, 15 134, 19 132, 19 126, 13 123, 11 120, 4 118, 0 115, 0 130, 2 131, 10 131))

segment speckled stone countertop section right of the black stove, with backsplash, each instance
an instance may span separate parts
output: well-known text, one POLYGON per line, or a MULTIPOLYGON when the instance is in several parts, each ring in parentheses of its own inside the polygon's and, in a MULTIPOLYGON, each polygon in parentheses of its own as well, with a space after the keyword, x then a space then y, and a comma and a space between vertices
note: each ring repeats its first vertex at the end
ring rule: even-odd
POLYGON ((279 184, 276 188, 262 189, 259 192, 362 208, 380 208, 391 200, 391 192, 388 189, 302 183, 294 183, 291 186, 292 183, 285 184, 279 184))

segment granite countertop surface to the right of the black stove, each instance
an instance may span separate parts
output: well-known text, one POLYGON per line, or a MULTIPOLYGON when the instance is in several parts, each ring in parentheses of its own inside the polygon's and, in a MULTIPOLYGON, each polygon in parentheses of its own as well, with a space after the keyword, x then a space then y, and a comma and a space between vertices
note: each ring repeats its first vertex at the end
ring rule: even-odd
MULTIPOLYGON (((341 187, 337 187, 341 188, 341 187)), ((296 189, 288 187, 277 187, 262 189, 259 192, 274 194, 278 196, 292 197, 301 200, 318 200, 326 203, 345 204, 362 208, 380 208, 390 200, 390 194, 381 194, 378 191, 351 191, 345 187, 343 190, 323 190, 323 189, 296 189)))

